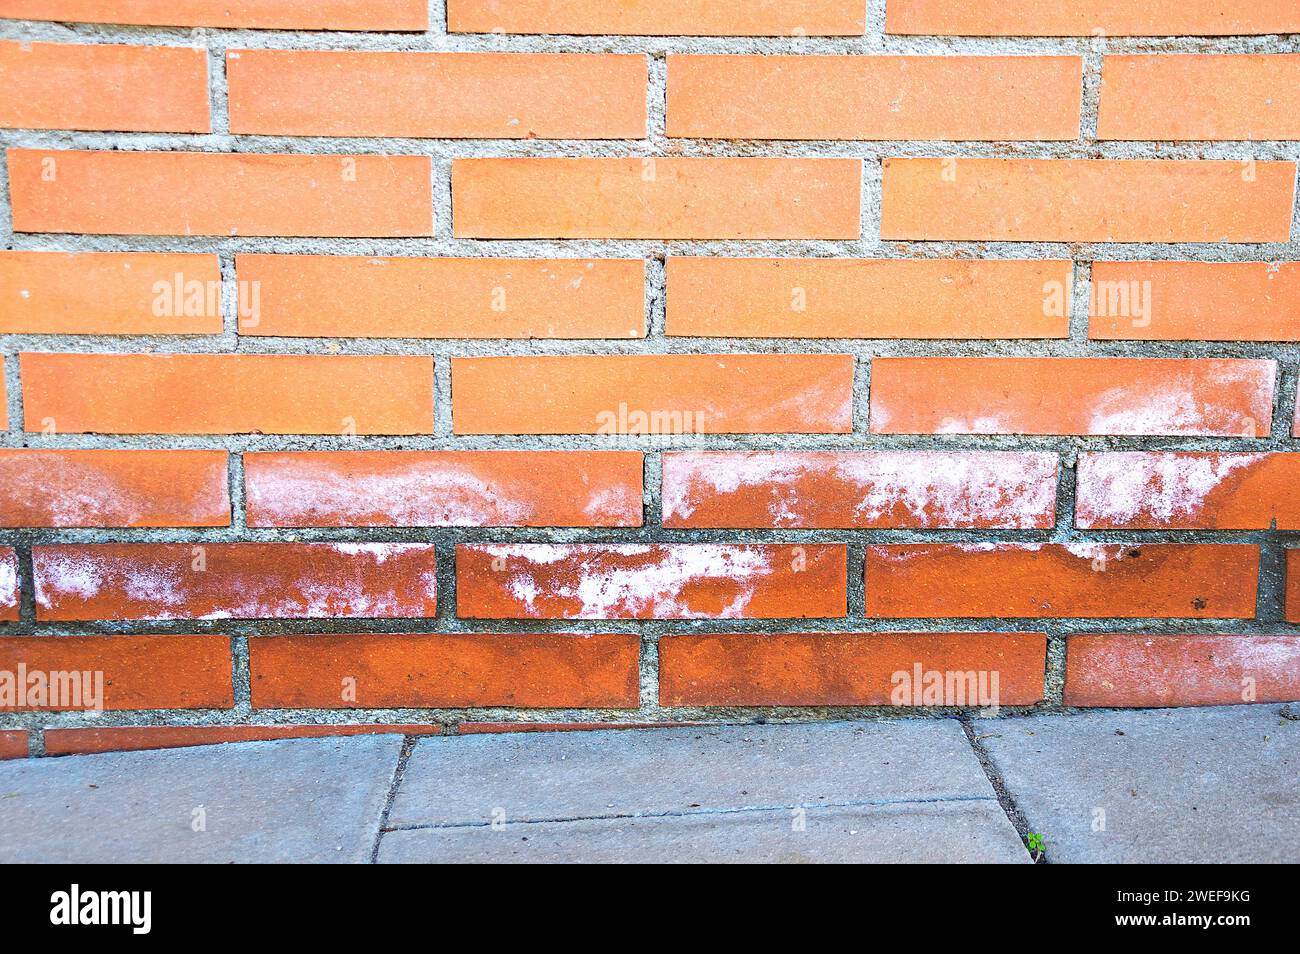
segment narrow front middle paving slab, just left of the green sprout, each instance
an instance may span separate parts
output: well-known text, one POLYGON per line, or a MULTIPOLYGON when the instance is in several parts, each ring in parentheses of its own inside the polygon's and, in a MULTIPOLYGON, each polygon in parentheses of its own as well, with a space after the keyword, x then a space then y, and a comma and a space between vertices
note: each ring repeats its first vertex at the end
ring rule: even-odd
POLYGON ((1020 863, 996 801, 707 812, 387 832, 381 863, 1020 863))

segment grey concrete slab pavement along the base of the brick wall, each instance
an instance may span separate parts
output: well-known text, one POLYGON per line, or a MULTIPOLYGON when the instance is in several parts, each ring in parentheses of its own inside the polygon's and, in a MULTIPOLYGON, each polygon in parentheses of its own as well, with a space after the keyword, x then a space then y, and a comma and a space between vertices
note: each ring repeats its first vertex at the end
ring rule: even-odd
MULTIPOLYGON (((1294 707, 1292 707, 1294 708, 1294 707)), ((0 763, 0 862, 1300 860, 1283 707, 355 736, 0 763)))

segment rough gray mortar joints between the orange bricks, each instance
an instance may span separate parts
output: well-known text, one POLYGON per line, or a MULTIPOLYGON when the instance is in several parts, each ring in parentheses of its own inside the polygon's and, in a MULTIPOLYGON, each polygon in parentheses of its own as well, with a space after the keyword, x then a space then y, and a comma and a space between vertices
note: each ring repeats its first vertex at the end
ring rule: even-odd
MULTIPOLYGON (((430 0, 432 29, 422 34, 289 32, 270 30, 188 30, 0 21, 0 38, 78 43, 136 43, 202 45, 209 51, 209 87, 213 131, 204 135, 74 133, 0 130, 5 147, 68 149, 161 149, 203 152, 374 153, 429 156, 433 164, 436 230, 432 238, 254 238, 254 237, 146 237, 14 234, 0 221, 5 248, 57 251, 191 251, 220 256, 225 287, 225 330, 220 335, 0 335, 8 383, 9 432, 5 447, 208 447, 231 452, 233 525, 213 529, 122 530, 9 530, 0 543, 14 545, 22 574, 22 619, 0 624, 0 634, 75 633, 226 633, 235 663, 233 710, 174 710, 86 714, 8 714, 0 728, 26 728, 32 754, 43 754, 43 727, 108 725, 231 725, 231 724, 351 724, 429 723, 452 727, 459 721, 798 721, 809 719, 950 717, 956 710, 892 707, 776 707, 776 708, 660 708, 658 704, 658 641, 673 632, 1045 632, 1048 634, 1046 699, 1032 707, 1004 707, 1005 715, 1063 714, 1065 639, 1070 633, 1141 630, 1148 633, 1300 633, 1282 621, 1283 550, 1300 545, 1300 532, 1161 532, 1089 533, 1097 542, 1231 542, 1262 546, 1258 617, 1254 620, 868 620, 863 616, 862 567, 870 543, 1072 541, 1083 534, 1072 526, 1074 464, 1080 450, 1295 450, 1290 438, 1300 383, 1296 344, 1251 342, 1088 342, 1087 303, 1091 263, 1095 260, 1296 260, 1295 240, 1265 244, 1179 243, 1005 243, 1005 242, 881 242, 880 160, 890 156, 1014 156, 1026 159, 1280 159, 1300 160, 1296 142, 1108 142, 1092 139, 1097 122, 1100 62, 1105 53, 1138 52, 1300 52, 1300 35, 1230 38, 942 38, 884 35, 884 0, 867 3, 867 35, 854 38, 653 38, 653 36, 504 36, 447 35, 445 5, 430 0), (642 140, 426 140, 294 136, 234 136, 226 122, 225 53, 228 49, 373 49, 373 51, 502 51, 502 52, 614 52, 650 58, 647 113, 650 133, 642 140), (1071 55, 1084 58, 1080 136, 1060 143, 978 142, 758 142, 668 139, 664 134, 667 53, 872 53, 872 55, 1071 55), (838 156, 863 160, 862 225, 859 239, 829 240, 471 240, 451 235, 451 160, 472 156, 838 156), (502 256, 502 257, 633 257, 646 265, 649 337, 637 341, 437 341, 426 339, 321 339, 247 338, 235 334, 234 255, 237 252, 298 252, 332 255, 502 256), (708 339, 666 338, 664 266, 667 255, 788 256, 788 257, 966 257, 1067 259, 1075 263, 1075 289, 1070 337, 1062 341, 864 341, 864 339, 708 339), (337 348, 337 351, 335 351, 337 348), (112 435, 69 434, 47 437, 22 430, 20 351, 82 352, 251 352, 251 354, 359 354, 436 356, 436 426, 428 437, 266 437, 266 435, 112 435), (240 513, 243 500, 239 454, 259 450, 474 450, 474 448, 607 448, 594 435, 559 437, 456 437, 451 428, 451 359, 477 355, 552 354, 850 354, 854 355, 854 426, 850 434, 692 435, 685 438, 620 439, 619 447, 646 452, 645 517, 640 529, 352 529, 270 530, 248 529, 240 513), (1097 437, 972 437, 874 435, 867 432, 870 360, 890 355, 1122 355, 1138 357, 1269 357, 1279 364, 1274 400, 1273 435, 1269 438, 1097 438, 1097 437), (659 528, 660 450, 835 450, 835 448, 982 448, 1053 451, 1061 459, 1057 526, 1052 530, 673 530, 659 528), (70 628, 36 623, 31 591, 31 546, 53 542, 218 542, 218 541, 402 541, 433 542, 438 547, 438 611, 433 620, 269 620, 190 623, 91 623, 70 628), (707 620, 707 621, 485 621, 455 616, 454 547, 463 542, 838 542, 849 551, 849 615, 833 620, 707 620), (352 632, 628 632, 642 641, 641 707, 638 710, 257 710, 250 706, 247 641, 259 633, 352 632)), ((8 170, 0 164, 0 204, 8 208, 8 170)), ((1297 207, 1300 208, 1300 207, 1297 207)), ((1300 212, 1297 212, 1300 216, 1300 212)), ((1292 239, 1300 234, 1292 222, 1292 239)))

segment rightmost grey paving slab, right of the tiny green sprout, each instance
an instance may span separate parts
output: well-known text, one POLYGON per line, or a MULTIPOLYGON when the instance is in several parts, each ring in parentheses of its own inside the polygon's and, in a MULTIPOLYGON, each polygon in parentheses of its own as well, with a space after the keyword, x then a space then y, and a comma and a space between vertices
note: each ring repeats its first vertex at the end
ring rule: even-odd
POLYGON ((1295 863, 1300 723, 1280 708, 1082 712, 976 727, 1052 860, 1295 863))

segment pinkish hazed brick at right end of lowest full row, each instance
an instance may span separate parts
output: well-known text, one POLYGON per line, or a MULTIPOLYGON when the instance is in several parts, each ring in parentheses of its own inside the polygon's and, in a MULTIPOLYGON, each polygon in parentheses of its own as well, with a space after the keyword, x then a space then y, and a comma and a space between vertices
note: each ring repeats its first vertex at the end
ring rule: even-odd
POLYGON ((1066 706, 1231 706, 1300 699, 1297 636, 1071 636, 1066 706))

